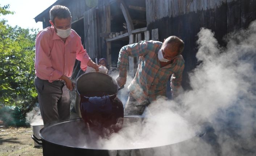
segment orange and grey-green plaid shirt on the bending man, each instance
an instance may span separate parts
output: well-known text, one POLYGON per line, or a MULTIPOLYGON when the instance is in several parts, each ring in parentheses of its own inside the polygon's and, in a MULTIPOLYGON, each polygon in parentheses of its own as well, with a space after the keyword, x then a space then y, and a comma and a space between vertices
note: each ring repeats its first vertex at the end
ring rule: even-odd
POLYGON ((139 56, 139 66, 134 79, 128 86, 132 96, 139 102, 156 100, 157 96, 166 96, 166 84, 171 78, 172 93, 176 94, 181 85, 182 72, 185 61, 182 55, 178 55, 171 64, 161 67, 158 60, 158 50, 162 42, 140 41, 121 48, 117 62, 119 76, 127 75, 128 56, 139 56))

